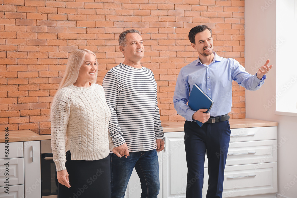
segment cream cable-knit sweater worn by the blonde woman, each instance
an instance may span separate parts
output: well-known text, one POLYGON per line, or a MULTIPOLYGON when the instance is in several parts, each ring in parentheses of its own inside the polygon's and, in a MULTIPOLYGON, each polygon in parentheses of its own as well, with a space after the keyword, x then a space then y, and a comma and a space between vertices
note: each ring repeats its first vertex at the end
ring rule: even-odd
POLYGON ((51 146, 57 171, 72 160, 98 160, 114 148, 109 136, 110 109, 102 86, 69 85, 58 91, 51 107, 51 146))

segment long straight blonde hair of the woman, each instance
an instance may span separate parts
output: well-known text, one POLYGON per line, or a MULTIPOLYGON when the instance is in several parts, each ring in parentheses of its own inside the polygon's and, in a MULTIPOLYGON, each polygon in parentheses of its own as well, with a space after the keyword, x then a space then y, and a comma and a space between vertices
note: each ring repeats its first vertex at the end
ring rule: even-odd
MULTIPOLYGON (((58 91, 61 88, 67 87, 68 85, 71 85, 76 82, 76 80, 78 79, 78 73, 79 73, 80 67, 85 62, 85 55, 87 53, 93 54, 97 61, 96 55, 94 54, 94 52, 92 52, 90 50, 78 49, 78 50, 74 50, 70 53, 70 56, 69 56, 68 62, 67 62, 67 66, 65 69, 64 77, 62 78, 62 81, 60 83, 58 91)), ((97 67, 98 67, 98 63, 97 63, 97 67)), ((97 73, 98 73, 98 69, 95 73, 96 77, 97 77, 97 73)), ((93 81, 91 81, 91 83, 96 83, 96 81, 97 81, 97 78, 95 78, 93 81)))

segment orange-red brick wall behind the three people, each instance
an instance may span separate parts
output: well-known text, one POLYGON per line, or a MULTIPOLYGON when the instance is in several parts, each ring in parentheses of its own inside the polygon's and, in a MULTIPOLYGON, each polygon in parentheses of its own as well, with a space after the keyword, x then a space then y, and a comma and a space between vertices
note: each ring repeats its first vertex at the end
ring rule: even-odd
MULTIPOLYGON (((212 28, 220 56, 244 65, 244 1, 0 0, 0 131, 47 133, 69 53, 96 52, 101 84, 123 61, 117 39, 131 28, 144 39, 142 64, 154 72, 161 120, 184 120, 173 108, 173 92, 180 68, 198 57, 187 37, 200 24, 212 28)), ((245 92, 236 83, 231 118, 245 118, 245 92)))

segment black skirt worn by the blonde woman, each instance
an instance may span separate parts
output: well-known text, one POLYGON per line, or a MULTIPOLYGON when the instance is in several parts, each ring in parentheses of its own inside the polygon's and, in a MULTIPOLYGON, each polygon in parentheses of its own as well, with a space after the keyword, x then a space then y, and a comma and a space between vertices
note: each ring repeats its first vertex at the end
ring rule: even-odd
POLYGON ((70 188, 58 184, 58 198, 110 198, 110 158, 99 160, 71 160, 66 153, 70 188))

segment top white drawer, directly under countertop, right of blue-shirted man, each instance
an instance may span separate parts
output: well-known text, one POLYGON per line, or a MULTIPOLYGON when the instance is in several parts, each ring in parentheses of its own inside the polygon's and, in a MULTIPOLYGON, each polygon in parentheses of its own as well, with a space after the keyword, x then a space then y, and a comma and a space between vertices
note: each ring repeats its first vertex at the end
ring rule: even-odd
POLYGON ((253 127, 231 129, 230 142, 243 142, 255 140, 276 140, 277 127, 253 127))

